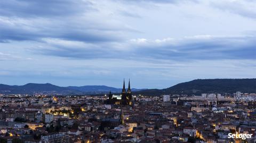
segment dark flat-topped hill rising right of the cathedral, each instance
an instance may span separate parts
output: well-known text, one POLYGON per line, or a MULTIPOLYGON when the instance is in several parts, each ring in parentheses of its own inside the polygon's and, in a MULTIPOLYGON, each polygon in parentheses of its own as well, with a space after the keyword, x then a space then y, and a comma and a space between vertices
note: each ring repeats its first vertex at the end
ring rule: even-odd
POLYGON ((202 93, 234 93, 236 91, 256 93, 256 79, 196 79, 179 83, 166 89, 148 89, 136 92, 145 95, 202 93))

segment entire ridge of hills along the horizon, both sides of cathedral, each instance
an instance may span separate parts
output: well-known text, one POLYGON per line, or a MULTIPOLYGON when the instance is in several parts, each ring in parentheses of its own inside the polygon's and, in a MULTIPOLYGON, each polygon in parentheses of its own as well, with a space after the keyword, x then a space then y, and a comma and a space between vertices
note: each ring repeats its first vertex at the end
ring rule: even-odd
MULTIPOLYGON (((27 83, 23 86, 9 86, 0 84, 0 94, 107 94, 109 91, 120 93, 121 88, 108 86, 68 86, 60 87, 51 83, 27 83)), ((236 91, 256 93, 256 78, 252 79, 196 79, 178 83, 165 89, 132 89, 133 94, 163 95, 187 94, 200 95, 202 93, 234 93, 236 91)))

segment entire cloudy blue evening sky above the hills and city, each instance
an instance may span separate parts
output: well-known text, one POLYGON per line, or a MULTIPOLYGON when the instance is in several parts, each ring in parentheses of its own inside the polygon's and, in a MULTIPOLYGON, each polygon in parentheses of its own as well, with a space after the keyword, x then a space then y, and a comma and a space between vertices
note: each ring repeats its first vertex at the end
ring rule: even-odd
POLYGON ((167 88, 255 78, 254 0, 0 0, 0 82, 167 88), (126 83, 127 84, 127 83, 126 83))

